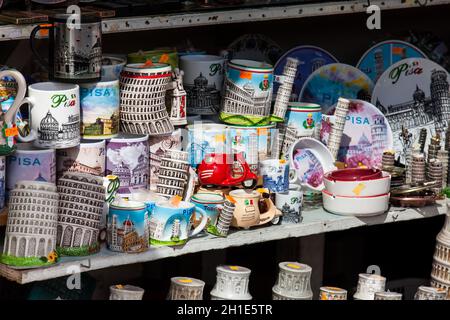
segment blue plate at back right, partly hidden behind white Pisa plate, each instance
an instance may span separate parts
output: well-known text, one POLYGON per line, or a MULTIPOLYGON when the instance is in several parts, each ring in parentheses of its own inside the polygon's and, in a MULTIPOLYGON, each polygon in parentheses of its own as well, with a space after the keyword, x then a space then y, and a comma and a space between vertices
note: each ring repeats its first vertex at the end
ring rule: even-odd
POLYGON ((367 50, 356 67, 376 83, 387 68, 407 58, 427 58, 427 56, 408 42, 388 40, 377 43, 367 50))

